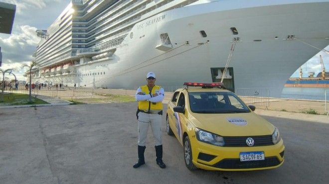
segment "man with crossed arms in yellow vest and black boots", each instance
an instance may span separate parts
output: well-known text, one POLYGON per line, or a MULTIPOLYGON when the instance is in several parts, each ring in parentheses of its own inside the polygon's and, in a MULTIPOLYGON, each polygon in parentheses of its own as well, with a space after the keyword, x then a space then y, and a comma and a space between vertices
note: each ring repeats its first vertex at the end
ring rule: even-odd
POLYGON ((165 96, 165 90, 156 86, 156 75, 149 72, 146 76, 147 85, 141 86, 136 92, 136 101, 138 101, 138 162, 133 166, 139 168, 145 164, 144 151, 146 149, 146 139, 149 125, 155 138, 155 148, 157 164, 160 168, 165 168, 162 161, 162 101, 165 96))

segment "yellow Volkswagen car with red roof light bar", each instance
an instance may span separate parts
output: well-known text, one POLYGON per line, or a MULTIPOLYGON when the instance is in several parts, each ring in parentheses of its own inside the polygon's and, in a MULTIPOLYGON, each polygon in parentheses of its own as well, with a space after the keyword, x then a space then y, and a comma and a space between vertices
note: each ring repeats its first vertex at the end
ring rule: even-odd
POLYGON ((167 105, 166 131, 183 146, 186 167, 250 171, 280 167, 279 130, 221 83, 184 83, 167 105))

